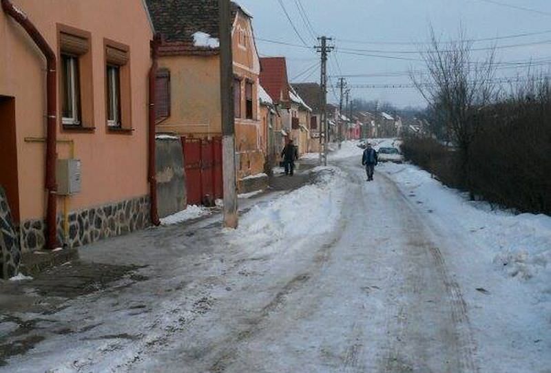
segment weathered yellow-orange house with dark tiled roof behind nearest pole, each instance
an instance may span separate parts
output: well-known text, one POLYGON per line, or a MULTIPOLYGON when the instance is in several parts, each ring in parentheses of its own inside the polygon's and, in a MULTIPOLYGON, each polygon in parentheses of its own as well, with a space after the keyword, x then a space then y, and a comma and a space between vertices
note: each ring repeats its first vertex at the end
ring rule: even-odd
MULTIPOLYGON (((159 97, 165 116, 158 132, 186 138, 222 136, 218 0, 147 0, 159 47, 159 97), (164 92, 163 92, 164 91, 164 92)), ((236 165, 239 189, 264 172, 258 76, 260 62, 252 17, 231 3, 233 17, 233 98, 236 116, 236 165)), ((188 181, 189 182, 189 181, 188 181)))

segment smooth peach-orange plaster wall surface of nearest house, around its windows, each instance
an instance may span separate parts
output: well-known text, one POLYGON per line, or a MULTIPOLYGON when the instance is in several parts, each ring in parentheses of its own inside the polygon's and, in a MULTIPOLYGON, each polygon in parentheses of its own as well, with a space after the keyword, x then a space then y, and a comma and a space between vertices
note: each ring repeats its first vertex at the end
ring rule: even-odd
MULTIPOLYGON (((58 52, 58 25, 90 33, 92 64, 92 131, 63 131, 58 138, 73 140, 82 161, 82 191, 69 200, 70 209, 127 200, 147 194, 147 73, 151 65, 152 30, 142 0, 12 0, 58 52), (132 70, 132 131, 107 131, 104 40, 129 46, 132 70)), ((19 25, 0 12, 0 95, 16 103, 17 156, 21 220, 45 214, 43 143, 25 138, 45 136, 45 61, 19 25)), ((59 58, 59 55, 58 55, 59 58)), ((58 102, 58 111, 61 110, 58 102)), ((58 144, 59 158, 69 147, 58 144)), ((59 204, 61 206, 61 203, 59 204)))

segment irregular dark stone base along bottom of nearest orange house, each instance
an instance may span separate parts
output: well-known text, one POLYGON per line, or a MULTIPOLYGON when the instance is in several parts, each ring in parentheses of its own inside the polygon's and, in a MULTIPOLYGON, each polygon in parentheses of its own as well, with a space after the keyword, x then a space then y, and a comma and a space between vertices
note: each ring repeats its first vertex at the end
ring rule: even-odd
MULTIPOLYGON (((59 215, 57 237, 68 248, 75 248, 107 237, 139 231, 149 225, 149 196, 144 196, 70 213, 68 237, 64 237, 63 217, 59 215)), ((44 248, 43 220, 27 220, 21 224, 20 231, 23 252, 44 248)))

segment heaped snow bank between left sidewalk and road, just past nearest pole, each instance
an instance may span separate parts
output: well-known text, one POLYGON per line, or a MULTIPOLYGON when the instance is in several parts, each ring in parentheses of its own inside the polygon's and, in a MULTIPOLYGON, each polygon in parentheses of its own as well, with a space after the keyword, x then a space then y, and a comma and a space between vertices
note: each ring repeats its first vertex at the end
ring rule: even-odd
POLYGON ((241 217, 237 231, 228 232, 229 242, 251 251, 284 251, 286 242, 312 239, 337 224, 346 191, 342 171, 316 167, 315 184, 256 205, 241 217))

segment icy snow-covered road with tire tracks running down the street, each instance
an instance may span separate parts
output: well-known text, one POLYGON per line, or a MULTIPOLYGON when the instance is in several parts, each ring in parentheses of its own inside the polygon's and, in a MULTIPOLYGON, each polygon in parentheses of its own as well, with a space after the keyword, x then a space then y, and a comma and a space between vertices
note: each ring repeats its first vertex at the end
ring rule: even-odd
POLYGON ((6 372, 548 372, 548 303, 471 259, 459 224, 438 224, 391 168, 367 183, 356 156, 335 162, 258 200, 236 232, 212 217, 83 251, 151 265, 49 315, 44 330, 76 332, 6 372))

